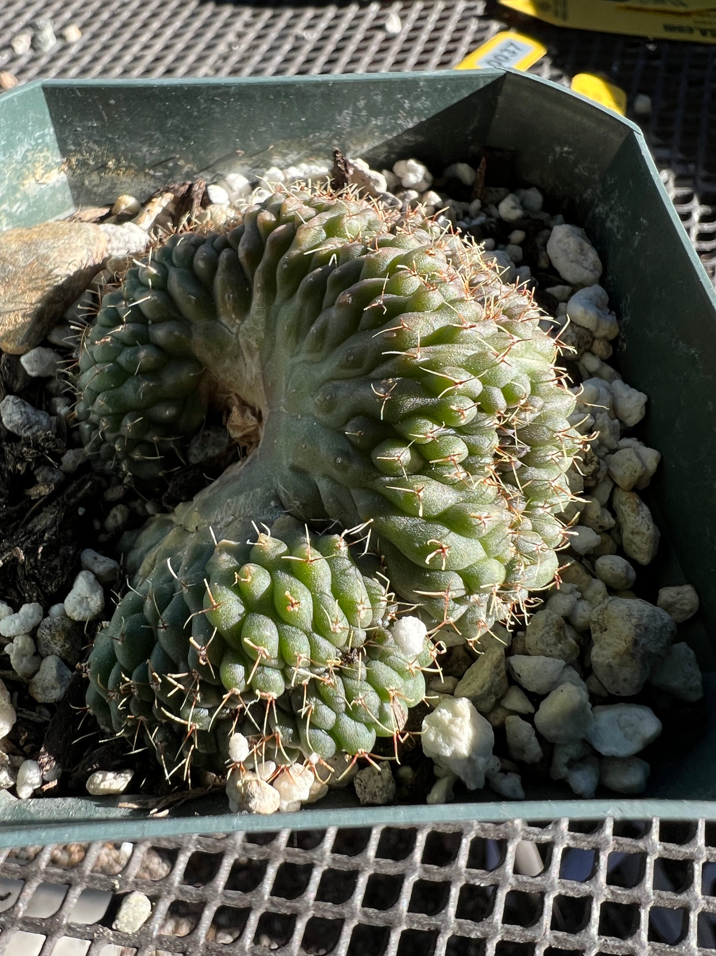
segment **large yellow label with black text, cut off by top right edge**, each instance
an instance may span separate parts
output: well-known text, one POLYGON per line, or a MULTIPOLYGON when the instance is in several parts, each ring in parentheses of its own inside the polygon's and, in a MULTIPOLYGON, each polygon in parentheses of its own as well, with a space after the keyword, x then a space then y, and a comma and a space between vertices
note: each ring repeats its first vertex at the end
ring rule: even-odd
MULTIPOLYGON (((696 4, 698 0, 685 2, 696 4)), ((557 27, 716 43, 716 0, 708 2, 708 10, 691 6, 680 7, 681 12, 676 12, 674 0, 668 0, 668 7, 659 5, 659 10, 651 9, 659 0, 643 0, 644 5, 651 5, 649 9, 614 0, 499 0, 503 7, 536 16, 557 27)))

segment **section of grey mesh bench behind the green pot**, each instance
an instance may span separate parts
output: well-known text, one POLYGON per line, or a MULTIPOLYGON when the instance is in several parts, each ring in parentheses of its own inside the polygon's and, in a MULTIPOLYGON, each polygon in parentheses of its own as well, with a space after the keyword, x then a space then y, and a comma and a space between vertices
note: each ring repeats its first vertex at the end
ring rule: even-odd
MULTIPOLYGON (((0 69, 38 76, 294 76, 450 69, 488 37, 516 25, 548 55, 532 72, 569 82, 597 71, 620 85, 652 148, 689 237, 716 275, 716 46, 547 26, 494 0, 265 4, 238 0, 3 0, 0 69), (400 32, 386 27, 390 14, 400 32), (11 40, 38 18, 58 42, 15 54, 11 40), (81 38, 62 31, 74 24, 81 38)), ((630 114, 633 116, 633 114, 630 114)))

